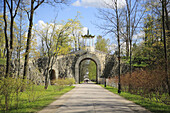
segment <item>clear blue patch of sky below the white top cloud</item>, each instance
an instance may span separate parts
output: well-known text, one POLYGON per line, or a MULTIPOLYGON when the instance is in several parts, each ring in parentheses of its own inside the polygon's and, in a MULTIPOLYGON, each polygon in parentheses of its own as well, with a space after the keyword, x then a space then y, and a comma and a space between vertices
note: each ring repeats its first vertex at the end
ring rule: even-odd
MULTIPOLYGON (((72 3, 76 3, 76 1, 79 0, 73 0, 72 3)), ((57 16, 58 22, 61 22, 61 20, 67 21, 67 19, 74 19, 77 15, 77 11, 81 13, 81 18, 79 19, 81 24, 84 27, 89 28, 90 34, 95 36, 102 35, 102 31, 97 29, 96 26, 93 24, 97 20, 95 16, 95 14, 97 14, 97 8, 93 6, 73 6, 72 4, 70 4, 69 6, 64 5, 62 7, 52 7, 45 4, 40 6, 36 10, 36 14, 34 16, 34 24, 37 24, 39 20, 42 20, 45 23, 50 23, 52 20, 54 20, 55 16, 57 16)))

